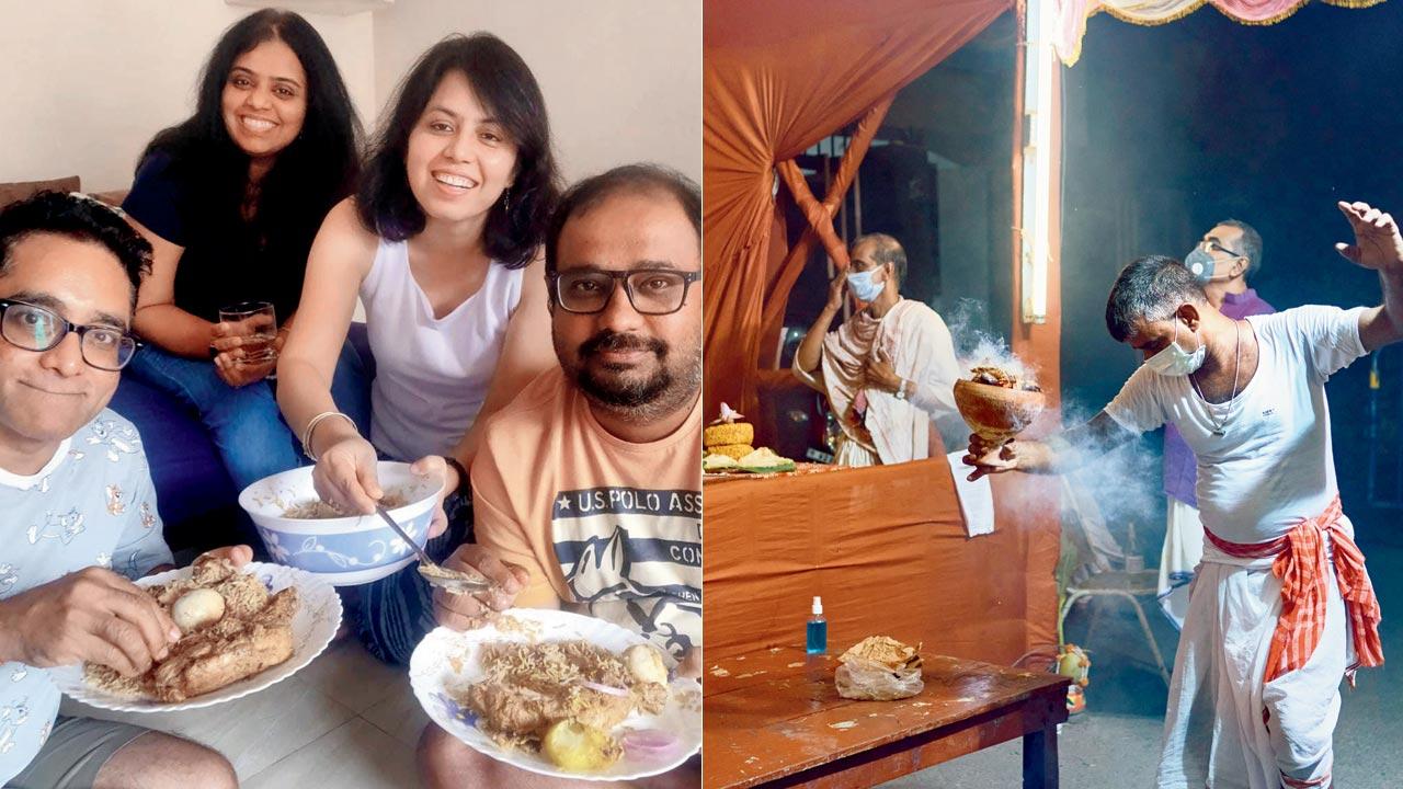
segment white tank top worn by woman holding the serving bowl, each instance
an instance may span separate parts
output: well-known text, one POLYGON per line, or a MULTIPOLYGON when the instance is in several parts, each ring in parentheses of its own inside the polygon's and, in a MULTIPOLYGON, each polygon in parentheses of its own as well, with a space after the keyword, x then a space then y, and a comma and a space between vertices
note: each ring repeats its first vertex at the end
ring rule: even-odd
POLYGON ((375 354, 370 442, 400 460, 448 455, 473 427, 522 298, 522 270, 487 267, 483 286, 442 319, 410 272, 410 246, 380 239, 361 284, 375 354))

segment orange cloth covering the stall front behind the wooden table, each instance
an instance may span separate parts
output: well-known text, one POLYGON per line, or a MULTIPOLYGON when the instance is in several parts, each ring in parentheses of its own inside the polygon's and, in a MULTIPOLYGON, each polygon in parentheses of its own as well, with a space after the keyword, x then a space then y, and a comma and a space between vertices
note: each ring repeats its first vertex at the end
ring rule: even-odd
POLYGON ((758 649, 801 646, 814 595, 824 598, 831 654, 885 635, 923 642, 929 654, 1049 660, 1056 480, 992 479, 998 525, 971 539, 951 473, 941 456, 707 482, 707 667, 758 649), (1052 522, 1030 511, 1052 512, 1052 522))

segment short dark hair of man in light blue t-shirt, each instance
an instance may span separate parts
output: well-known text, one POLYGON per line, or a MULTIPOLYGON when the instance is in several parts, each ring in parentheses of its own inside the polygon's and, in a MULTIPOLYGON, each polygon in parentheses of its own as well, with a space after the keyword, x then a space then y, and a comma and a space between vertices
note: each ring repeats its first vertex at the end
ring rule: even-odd
POLYGON ((126 270, 133 300, 142 275, 152 270, 152 244, 116 211, 81 195, 39 192, 0 208, 0 277, 10 272, 14 247, 35 233, 107 247, 126 270))

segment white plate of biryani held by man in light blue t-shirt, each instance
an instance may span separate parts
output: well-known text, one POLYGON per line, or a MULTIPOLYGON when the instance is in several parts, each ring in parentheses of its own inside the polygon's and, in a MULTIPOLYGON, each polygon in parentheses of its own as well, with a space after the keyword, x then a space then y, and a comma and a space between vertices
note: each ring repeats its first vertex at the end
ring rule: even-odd
POLYGON ((311 663, 341 625, 341 598, 316 576, 250 562, 195 564, 136 581, 185 632, 166 660, 129 679, 87 664, 51 668, 65 695, 115 712, 175 712, 247 696, 311 663))

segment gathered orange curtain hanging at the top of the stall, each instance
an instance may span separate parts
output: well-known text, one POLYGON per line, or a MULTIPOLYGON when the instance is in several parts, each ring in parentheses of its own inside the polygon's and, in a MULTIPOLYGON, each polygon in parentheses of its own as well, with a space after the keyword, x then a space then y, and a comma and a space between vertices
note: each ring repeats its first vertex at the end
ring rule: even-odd
MULTIPOLYGON (((776 166, 868 112, 1009 7, 1010 0, 707 1, 707 413, 721 400, 742 413, 756 406, 776 166)), ((777 288, 774 298, 787 291, 777 288)))

